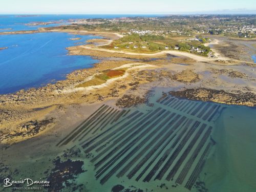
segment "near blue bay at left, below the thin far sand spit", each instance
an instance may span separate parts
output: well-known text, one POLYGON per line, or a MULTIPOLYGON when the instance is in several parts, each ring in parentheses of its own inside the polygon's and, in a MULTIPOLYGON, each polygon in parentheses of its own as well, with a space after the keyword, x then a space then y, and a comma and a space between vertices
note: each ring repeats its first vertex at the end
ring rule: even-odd
POLYGON ((0 35, 0 94, 20 89, 40 87, 65 79, 66 74, 82 68, 90 68, 97 60, 90 56, 67 55, 66 47, 75 42, 85 42, 90 35, 68 33, 34 33, 0 35), (70 38, 80 37, 79 40, 70 38))

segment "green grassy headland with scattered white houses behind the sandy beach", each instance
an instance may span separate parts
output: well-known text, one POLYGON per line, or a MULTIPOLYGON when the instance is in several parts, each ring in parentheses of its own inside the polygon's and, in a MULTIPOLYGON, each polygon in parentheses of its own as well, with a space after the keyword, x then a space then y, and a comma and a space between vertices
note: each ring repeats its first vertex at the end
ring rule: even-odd
POLYGON ((195 36, 193 38, 177 38, 169 35, 156 35, 151 31, 131 30, 123 34, 120 39, 114 40, 112 44, 102 46, 105 49, 126 50, 136 53, 157 52, 163 50, 176 50, 190 52, 201 56, 214 57, 209 47, 204 46, 210 42, 210 38, 195 36))

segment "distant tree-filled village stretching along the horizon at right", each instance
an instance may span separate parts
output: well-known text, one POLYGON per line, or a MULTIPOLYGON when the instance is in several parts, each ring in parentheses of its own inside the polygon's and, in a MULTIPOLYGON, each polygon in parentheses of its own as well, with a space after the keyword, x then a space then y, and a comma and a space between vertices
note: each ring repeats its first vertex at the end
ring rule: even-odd
POLYGON ((166 15, 161 17, 120 17, 112 19, 70 19, 72 25, 119 32, 124 35, 224 35, 256 37, 256 16, 251 15, 166 15))

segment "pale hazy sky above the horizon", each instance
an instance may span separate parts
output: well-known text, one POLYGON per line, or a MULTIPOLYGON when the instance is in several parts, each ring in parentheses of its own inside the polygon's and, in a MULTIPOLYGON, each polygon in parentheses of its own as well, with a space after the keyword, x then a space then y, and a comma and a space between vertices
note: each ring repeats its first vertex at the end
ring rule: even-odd
POLYGON ((256 14, 256 0, 0 0, 0 14, 256 14))

